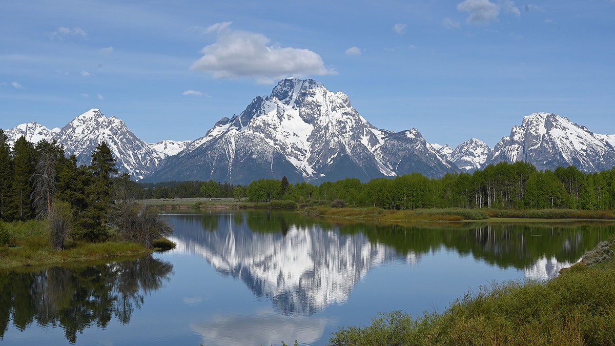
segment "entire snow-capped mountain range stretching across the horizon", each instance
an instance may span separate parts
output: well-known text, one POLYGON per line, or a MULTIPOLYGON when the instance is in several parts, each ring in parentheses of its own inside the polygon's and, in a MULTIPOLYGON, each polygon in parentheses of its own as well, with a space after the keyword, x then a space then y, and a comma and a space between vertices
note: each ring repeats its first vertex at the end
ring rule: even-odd
POLYGON ((343 92, 312 79, 287 78, 271 94, 258 96, 239 115, 222 118, 196 140, 145 143, 126 124, 98 109, 77 116, 62 129, 38 123, 5 131, 9 144, 57 140, 79 164, 106 141, 121 172, 147 182, 209 180, 247 184, 258 179, 291 182, 362 181, 419 172, 442 177, 489 164, 526 161, 538 169, 576 166, 583 172, 615 166, 615 135, 552 113, 523 118, 493 150, 478 139, 456 148, 428 143, 418 129, 378 129, 355 110, 343 92))

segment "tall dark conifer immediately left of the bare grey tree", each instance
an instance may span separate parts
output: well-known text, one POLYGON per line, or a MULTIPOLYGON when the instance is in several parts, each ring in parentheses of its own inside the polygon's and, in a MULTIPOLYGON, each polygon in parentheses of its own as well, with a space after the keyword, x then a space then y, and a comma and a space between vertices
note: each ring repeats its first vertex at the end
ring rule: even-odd
POLYGON ((12 219, 28 220, 33 215, 31 178, 34 174, 34 147, 23 136, 15 141, 13 167, 10 214, 12 214, 12 219))

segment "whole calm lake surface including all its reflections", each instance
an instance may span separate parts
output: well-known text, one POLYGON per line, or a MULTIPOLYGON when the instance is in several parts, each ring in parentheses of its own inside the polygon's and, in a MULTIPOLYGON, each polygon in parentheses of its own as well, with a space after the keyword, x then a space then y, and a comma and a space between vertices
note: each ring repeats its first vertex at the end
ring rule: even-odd
POLYGON ((323 345, 378 312, 442 312, 493 281, 552 278, 615 231, 382 227, 268 211, 167 219, 170 252, 0 273, 0 343, 323 345))

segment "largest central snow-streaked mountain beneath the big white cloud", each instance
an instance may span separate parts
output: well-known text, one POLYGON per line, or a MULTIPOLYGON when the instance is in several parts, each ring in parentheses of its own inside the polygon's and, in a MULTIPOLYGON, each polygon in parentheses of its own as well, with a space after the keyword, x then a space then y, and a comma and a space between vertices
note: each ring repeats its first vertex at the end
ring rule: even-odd
POLYGON ((454 169, 416 129, 397 134, 377 129, 346 94, 312 79, 288 78, 240 115, 222 118, 148 180, 365 181, 410 172, 440 176, 454 169), (400 163, 406 160, 412 162, 400 163))

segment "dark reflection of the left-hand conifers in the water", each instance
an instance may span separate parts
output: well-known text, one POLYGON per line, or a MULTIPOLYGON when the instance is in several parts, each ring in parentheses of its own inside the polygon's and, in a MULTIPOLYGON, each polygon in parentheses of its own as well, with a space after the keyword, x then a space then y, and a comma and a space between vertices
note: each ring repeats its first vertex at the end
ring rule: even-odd
POLYGON ((105 328, 115 316, 130 322, 144 297, 169 280, 173 265, 151 255, 90 267, 0 273, 0 338, 9 323, 25 331, 34 321, 60 326, 71 344, 85 328, 105 328))

